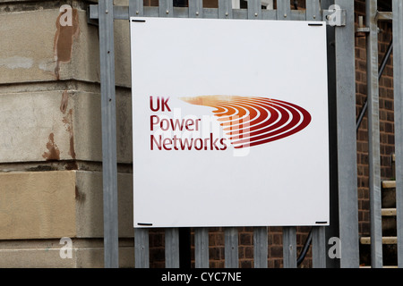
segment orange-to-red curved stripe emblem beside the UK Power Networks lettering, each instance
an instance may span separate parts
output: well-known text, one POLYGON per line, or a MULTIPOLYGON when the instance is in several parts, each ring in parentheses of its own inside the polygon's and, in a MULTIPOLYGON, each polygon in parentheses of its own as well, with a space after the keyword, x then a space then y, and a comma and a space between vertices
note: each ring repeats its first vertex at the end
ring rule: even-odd
POLYGON ((220 125, 235 148, 284 139, 304 130, 312 120, 304 108, 266 97, 181 97, 192 105, 214 107, 220 125))

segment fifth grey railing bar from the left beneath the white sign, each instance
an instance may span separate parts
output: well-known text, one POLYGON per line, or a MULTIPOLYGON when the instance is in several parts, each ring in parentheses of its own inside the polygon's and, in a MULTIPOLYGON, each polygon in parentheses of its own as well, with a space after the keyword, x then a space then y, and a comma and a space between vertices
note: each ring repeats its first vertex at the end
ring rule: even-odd
POLYGON ((254 268, 267 268, 268 266, 268 227, 255 227, 253 229, 253 266, 254 268))

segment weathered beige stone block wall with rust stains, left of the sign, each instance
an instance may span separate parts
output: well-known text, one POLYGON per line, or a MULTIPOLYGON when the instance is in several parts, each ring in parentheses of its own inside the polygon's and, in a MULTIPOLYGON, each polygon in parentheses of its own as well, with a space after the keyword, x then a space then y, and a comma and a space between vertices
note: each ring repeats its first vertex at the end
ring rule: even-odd
MULTIPOLYGON (((0 267, 103 266, 99 30, 88 4, 0 0, 0 267), (60 24, 63 4, 72 26, 60 24), (60 257, 63 237, 72 258, 60 257)), ((122 267, 134 265, 128 31, 116 21, 122 267)))

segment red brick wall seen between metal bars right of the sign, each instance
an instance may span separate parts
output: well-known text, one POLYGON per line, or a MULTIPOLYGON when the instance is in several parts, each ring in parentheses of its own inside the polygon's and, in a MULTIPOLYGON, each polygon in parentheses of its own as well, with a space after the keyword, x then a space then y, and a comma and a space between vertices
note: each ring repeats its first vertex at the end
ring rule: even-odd
MULTIPOLYGON (((386 1, 388 2, 388 1, 386 1)), ((386 3, 385 2, 385 3, 386 3)), ((387 5, 380 5, 379 10, 389 11, 387 5)), ((364 0, 356 1, 356 23, 358 16, 365 15, 364 0)), ((390 45, 392 37, 391 23, 379 22, 379 64, 390 45)), ((359 114, 367 95, 366 88, 366 48, 365 35, 356 34, 356 114, 359 114)), ((383 71, 380 80, 380 130, 381 130, 381 177, 382 180, 394 178, 391 156, 394 153, 394 116, 393 116, 393 55, 383 71)), ((357 182, 359 230, 362 236, 370 234, 369 190, 368 190, 368 117, 365 114, 357 132, 357 182)))

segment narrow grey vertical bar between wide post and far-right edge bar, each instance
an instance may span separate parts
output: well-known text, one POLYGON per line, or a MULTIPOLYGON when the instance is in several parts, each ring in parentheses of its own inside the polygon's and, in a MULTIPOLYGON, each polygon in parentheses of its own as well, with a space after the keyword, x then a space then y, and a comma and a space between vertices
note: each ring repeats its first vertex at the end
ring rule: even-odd
POLYGON ((371 265, 382 267, 381 147, 378 82, 377 0, 366 1, 367 94, 368 94, 368 161, 371 221, 371 265))

